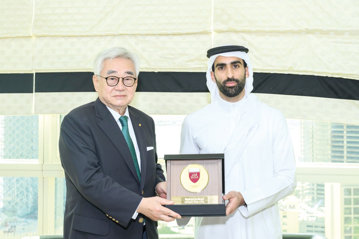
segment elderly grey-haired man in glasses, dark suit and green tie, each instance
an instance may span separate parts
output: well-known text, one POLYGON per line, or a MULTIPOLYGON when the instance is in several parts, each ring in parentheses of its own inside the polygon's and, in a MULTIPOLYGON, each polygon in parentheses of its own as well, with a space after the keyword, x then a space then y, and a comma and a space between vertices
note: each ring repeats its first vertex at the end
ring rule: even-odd
POLYGON ((122 47, 99 53, 93 76, 98 98, 62 121, 66 239, 153 239, 157 220, 181 217, 162 206, 173 201, 165 199, 154 121, 129 106, 139 64, 137 54, 122 47))

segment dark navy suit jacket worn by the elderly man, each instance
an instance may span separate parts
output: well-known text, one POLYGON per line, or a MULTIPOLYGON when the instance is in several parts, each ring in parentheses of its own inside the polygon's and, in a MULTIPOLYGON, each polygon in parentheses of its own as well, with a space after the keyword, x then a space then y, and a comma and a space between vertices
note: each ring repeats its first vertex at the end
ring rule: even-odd
POLYGON ((154 121, 128 107, 141 158, 141 184, 120 127, 96 101, 73 109, 61 124, 59 150, 66 179, 64 238, 158 238, 157 222, 132 215, 165 180, 157 164, 154 121), (153 147, 147 151, 147 147, 153 147))

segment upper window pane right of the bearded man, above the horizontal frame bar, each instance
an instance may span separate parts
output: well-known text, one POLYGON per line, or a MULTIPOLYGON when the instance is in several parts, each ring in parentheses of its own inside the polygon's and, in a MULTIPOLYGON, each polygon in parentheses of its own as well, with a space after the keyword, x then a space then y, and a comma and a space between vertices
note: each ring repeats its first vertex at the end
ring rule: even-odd
POLYGON ((359 163, 359 126, 287 119, 298 162, 359 163), (345 147, 346 146, 346 147, 345 147))

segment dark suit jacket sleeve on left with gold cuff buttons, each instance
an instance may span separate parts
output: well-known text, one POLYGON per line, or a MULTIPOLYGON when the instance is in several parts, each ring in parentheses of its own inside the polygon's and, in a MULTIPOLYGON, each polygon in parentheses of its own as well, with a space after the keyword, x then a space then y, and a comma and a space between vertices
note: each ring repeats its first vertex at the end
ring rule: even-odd
POLYGON ((142 197, 103 174, 96 155, 94 136, 85 119, 72 115, 64 117, 59 151, 65 174, 79 193, 126 227, 142 197))

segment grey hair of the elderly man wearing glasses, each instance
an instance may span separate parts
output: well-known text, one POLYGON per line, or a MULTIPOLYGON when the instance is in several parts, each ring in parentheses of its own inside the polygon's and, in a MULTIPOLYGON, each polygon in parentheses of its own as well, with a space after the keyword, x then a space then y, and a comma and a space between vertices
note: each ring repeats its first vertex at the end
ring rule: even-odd
POLYGON ((103 68, 103 62, 107 59, 112 60, 113 58, 129 59, 134 64, 135 75, 138 77, 140 73, 140 58, 134 53, 130 52, 124 47, 112 47, 98 53, 93 61, 93 73, 99 75, 103 68))

